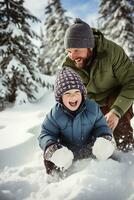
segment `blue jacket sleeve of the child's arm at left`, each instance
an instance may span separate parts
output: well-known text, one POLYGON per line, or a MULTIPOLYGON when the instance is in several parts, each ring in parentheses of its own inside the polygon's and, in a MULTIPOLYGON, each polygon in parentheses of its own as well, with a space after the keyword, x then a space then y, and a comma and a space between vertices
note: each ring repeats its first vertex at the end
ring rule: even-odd
POLYGON ((46 115, 46 118, 41 127, 41 134, 38 137, 39 146, 46 150, 47 146, 58 142, 60 128, 51 112, 46 115))

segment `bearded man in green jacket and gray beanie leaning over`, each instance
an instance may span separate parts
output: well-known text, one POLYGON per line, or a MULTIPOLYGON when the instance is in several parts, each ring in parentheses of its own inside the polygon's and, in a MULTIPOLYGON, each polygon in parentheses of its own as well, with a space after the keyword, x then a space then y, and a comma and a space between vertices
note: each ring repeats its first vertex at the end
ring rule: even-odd
POLYGON ((133 149, 133 63, 120 46, 79 18, 67 29, 64 45, 68 56, 63 67, 81 76, 89 97, 100 105, 113 130, 118 148, 133 149))

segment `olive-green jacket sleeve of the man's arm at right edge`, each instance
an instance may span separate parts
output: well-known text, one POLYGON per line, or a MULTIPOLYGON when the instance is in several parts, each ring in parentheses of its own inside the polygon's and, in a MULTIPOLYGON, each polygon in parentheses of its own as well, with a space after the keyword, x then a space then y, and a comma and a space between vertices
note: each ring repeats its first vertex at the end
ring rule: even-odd
POLYGON ((114 108, 122 116, 134 101, 134 64, 123 49, 116 46, 112 56, 113 72, 121 85, 121 91, 111 109, 114 108))

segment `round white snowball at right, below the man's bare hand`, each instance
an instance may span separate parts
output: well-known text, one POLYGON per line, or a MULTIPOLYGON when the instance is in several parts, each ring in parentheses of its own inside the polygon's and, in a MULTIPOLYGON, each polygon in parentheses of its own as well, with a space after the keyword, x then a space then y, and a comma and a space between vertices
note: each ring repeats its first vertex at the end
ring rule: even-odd
POLYGON ((114 152, 115 147, 111 141, 99 137, 96 139, 92 152, 99 160, 108 159, 114 152))

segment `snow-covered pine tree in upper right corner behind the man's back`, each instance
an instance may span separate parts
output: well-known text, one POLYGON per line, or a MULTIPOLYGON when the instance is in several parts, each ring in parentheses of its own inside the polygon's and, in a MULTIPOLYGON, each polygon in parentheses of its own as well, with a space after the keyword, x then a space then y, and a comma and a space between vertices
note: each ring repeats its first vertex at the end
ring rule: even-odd
POLYGON ((100 29, 134 60, 134 0, 101 0, 100 29))

